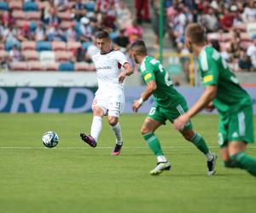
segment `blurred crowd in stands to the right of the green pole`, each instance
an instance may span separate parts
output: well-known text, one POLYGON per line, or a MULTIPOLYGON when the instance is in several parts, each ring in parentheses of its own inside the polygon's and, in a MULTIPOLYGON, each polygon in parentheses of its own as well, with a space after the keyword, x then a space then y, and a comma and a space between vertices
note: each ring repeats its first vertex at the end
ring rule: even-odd
POLYGON ((201 22, 207 41, 235 71, 256 72, 256 0, 165 1, 165 23, 173 46, 184 47, 189 22, 201 22), (171 3, 170 3, 171 2, 171 3))

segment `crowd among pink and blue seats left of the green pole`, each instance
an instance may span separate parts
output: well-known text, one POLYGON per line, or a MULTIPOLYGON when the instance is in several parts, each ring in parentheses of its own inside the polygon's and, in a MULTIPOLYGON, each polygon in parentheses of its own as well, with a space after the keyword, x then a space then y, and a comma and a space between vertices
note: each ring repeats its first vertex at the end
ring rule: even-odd
POLYGON ((0 0, 0 62, 17 71, 91 71, 94 33, 108 29, 116 49, 142 37, 125 1, 0 0), (137 35, 137 32, 139 33, 137 35))

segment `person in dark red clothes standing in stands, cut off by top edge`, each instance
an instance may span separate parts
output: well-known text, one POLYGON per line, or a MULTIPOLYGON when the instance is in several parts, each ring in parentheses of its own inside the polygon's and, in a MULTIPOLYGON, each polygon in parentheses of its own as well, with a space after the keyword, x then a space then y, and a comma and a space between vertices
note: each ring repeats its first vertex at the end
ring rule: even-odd
POLYGON ((148 0, 135 0, 137 23, 142 24, 143 21, 150 23, 148 0))

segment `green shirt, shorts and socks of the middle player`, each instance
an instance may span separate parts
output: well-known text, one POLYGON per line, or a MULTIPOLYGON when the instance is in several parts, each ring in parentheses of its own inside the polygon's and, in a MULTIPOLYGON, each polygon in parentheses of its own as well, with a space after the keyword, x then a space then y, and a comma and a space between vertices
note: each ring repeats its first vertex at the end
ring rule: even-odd
MULTIPOLYGON (((183 95, 179 94, 177 90, 173 88, 172 79, 159 60, 147 55, 143 59, 139 70, 144 83, 154 80, 157 85, 157 88, 153 92, 154 106, 151 107, 148 112, 148 118, 153 118, 161 124, 166 124, 166 120, 173 123, 176 118, 188 111, 187 102, 183 95)), ((190 121, 185 125, 183 131, 185 130, 192 130, 190 121)), ((160 141, 154 135, 154 132, 143 135, 143 137, 144 140, 147 141, 148 147, 150 147, 154 155, 163 155, 160 141)), ((191 142, 201 151, 201 153, 204 153, 208 157, 212 156, 212 154, 209 153, 206 141, 200 134, 195 132, 193 138, 191 138, 191 142)))

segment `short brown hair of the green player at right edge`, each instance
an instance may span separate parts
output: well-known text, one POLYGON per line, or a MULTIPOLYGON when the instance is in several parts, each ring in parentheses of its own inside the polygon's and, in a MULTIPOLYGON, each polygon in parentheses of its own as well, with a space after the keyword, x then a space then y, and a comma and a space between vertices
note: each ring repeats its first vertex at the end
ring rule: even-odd
POLYGON ((191 39, 192 43, 201 44, 206 41, 205 27, 198 23, 191 23, 187 26, 186 36, 191 39))

